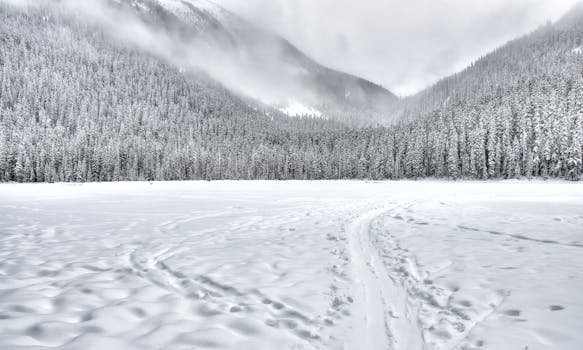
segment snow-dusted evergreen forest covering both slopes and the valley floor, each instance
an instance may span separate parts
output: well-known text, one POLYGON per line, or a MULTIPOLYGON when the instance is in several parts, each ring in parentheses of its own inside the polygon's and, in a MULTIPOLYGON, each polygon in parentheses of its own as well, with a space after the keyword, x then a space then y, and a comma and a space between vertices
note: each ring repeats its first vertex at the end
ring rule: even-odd
POLYGON ((289 118, 83 21, 0 6, 0 182, 566 178, 583 172, 583 16, 355 127, 289 118))

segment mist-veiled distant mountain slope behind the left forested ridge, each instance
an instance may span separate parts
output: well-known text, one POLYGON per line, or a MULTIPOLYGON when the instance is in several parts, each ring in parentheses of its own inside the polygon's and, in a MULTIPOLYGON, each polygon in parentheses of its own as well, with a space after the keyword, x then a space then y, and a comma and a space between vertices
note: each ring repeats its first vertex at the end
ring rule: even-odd
POLYGON ((396 101, 384 88, 318 64, 287 40, 210 0, 61 4, 126 44, 287 114, 305 111, 344 121, 356 115, 360 121, 366 119, 363 115, 380 119, 380 113, 396 101))

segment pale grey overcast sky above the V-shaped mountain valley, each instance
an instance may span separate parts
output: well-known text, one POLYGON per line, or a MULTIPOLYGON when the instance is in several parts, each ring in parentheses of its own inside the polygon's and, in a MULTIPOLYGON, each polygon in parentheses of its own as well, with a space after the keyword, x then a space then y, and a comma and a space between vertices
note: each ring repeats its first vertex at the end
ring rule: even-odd
POLYGON ((215 0, 330 67, 408 95, 578 0, 215 0))

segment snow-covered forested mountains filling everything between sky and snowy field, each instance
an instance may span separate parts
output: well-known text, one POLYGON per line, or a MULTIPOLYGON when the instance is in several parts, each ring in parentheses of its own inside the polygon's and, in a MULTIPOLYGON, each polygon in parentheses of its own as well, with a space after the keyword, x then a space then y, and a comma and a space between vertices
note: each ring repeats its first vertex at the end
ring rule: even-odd
POLYGON ((0 0, 0 181, 583 173, 580 8, 398 100, 396 125, 352 128, 338 121, 358 111, 347 86, 369 85, 213 5, 23 3, 0 0), (287 51, 263 55, 277 46, 269 40, 287 51), (329 109, 295 91, 326 97, 329 109), (242 97, 257 93, 297 100, 242 97), (329 112, 339 106, 346 114, 329 112))

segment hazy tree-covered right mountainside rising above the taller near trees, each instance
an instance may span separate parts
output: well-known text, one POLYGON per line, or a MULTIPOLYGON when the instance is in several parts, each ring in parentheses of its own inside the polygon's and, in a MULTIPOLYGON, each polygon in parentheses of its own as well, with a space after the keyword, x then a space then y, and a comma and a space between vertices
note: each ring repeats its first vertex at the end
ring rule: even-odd
POLYGON ((583 3, 557 23, 547 23, 481 57, 463 71, 446 77, 392 106, 394 120, 415 120, 457 104, 479 105, 484 99, 513 95, 529 80, 581 75, 583 3))

